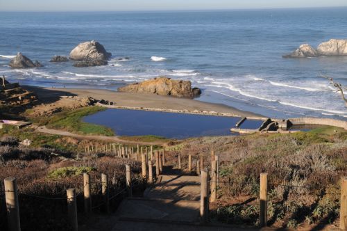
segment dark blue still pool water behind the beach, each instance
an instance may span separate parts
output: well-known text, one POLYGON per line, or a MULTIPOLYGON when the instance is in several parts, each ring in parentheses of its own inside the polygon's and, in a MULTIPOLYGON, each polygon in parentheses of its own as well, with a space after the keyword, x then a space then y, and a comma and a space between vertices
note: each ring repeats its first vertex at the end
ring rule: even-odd
MULTIPOLYGON (((230 132, 231 127, 241 118, 222 116, 201 116, 158 111, 136 111, 107 109, 83 121, 112 128, 118 136, 155 135, 167 138, 188 138, 196 136, 237 135, 230 132)), ((242 126, 255 129, 262 121, 247 120, 242 126)))

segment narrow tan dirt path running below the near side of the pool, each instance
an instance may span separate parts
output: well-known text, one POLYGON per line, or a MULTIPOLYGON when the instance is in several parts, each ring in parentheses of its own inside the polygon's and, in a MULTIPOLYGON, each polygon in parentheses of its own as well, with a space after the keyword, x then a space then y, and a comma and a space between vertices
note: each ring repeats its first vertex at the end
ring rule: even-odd
POLYGON ((45 126, 37 127, 37 132, 42 132, 46 134, 60 135, 60 136, 69 136, 74 137, 79 140, 96 140, 96 141, 106 141, 106 142, 115 142, 115 143, 126 143, 126 144, 139 144, 139 145, 164 145, 166 141, 155 141, 155 142, 144 142, 144 141, 126 141, 121 139, 119 136, 87 136, 74 134, 71 132, 66 132, 58 129, 48 129, 45 126))

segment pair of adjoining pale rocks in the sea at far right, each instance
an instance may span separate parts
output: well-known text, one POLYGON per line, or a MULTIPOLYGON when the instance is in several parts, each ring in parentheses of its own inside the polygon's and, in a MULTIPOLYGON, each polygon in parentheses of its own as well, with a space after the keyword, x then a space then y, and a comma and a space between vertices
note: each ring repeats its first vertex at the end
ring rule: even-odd
POLYGON ((347 56, 347 40, 331 39, 328 42, 322 42, 316 49, 308 44, 303 44, 291 54, 283 56, 283 58, 318 56, 347 56))

